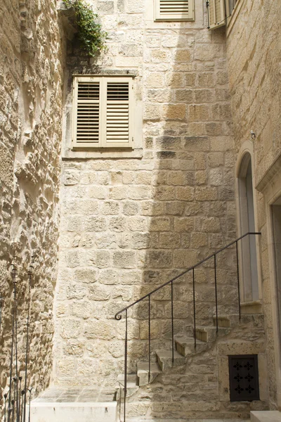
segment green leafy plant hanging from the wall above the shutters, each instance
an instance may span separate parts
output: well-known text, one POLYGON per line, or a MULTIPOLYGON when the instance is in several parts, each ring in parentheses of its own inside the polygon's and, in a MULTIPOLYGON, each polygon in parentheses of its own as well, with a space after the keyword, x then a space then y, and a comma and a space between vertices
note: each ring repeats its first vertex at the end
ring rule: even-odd
POLYGON ((92 57, 106 50, 107 32, 102 30, 100 23, 97 22, 98 15, 93 13, 91 7, 85 4, 84 0, 63 0, 63 2, 67 7, 74 8, 82 49, 92 57))

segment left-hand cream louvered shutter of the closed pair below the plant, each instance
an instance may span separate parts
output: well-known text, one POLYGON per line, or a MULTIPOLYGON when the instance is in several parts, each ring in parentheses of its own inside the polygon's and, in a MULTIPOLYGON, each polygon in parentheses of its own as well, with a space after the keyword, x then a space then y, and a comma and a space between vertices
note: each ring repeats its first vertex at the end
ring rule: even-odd
POLYGON ((74 78, 73 148, 100 146, 100 80, 74 78))

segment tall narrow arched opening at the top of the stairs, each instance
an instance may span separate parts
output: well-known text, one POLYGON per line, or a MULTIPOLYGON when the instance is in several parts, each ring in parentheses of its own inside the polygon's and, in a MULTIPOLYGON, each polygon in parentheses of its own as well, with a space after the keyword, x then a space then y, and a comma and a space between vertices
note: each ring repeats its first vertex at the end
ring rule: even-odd
MULTIPOLYGON (((245 153, 238 172, 240 235, 256 231, 254 216, 253 177, 251 170, 251 154, 245 153)), ((242 301, 259 300, 258 267, 256 260, 256 236, 242 239, 240 260, 242 261, 242 301)))

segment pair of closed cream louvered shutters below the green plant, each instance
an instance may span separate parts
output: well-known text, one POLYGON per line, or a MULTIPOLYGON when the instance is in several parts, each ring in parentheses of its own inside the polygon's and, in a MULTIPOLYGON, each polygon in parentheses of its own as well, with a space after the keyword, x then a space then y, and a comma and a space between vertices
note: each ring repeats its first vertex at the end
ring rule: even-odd
POLYGON ((72 148, 133 148, 131 77, 74 77, 72 148))

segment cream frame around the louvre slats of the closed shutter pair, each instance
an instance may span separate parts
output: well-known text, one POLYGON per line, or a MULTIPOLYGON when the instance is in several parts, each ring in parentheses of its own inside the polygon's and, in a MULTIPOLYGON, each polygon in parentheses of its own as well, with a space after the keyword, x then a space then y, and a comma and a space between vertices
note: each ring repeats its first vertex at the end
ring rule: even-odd
POLYGON ((133 77, 134 75, 73 75, 72 81, 72 151, 107 151, 121 150, 128 151, 133 149, 133 77), (128 82, 129 98, 129 135, 128 142, 110 142, 107 141, 106 122, 107 122, 107 82, 128 82), (96 145, 90 142, 77 143, 77 100, 79 82, 99 82, 99 133, 98 143, 96 145))

